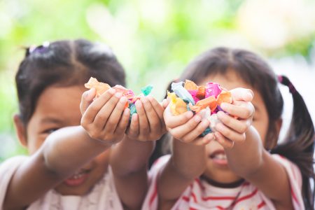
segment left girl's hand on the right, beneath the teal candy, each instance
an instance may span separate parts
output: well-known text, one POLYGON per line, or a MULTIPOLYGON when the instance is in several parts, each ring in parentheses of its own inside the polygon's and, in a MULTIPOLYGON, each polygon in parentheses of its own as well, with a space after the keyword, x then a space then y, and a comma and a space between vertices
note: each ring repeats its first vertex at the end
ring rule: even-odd
POLYGON ((132 115, 127 137, 139 141, 155 141, 166 132, 164 108, 151 95, 136 102, 137 113, 132 115))

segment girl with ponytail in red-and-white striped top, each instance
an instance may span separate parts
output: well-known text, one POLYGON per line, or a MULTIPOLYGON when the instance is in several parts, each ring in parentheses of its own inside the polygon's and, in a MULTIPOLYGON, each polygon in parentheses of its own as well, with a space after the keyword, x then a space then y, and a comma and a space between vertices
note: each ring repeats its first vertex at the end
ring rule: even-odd
POLYGON ((233 102, 221 104, 221 123, 204 137, 211 122, 199 113, 165 109, 172 155, 153 164, 143 209, 314 209, 314 124, 290 80, 253 52, 230 48, 202 53, 179 78, 185 80, 219 83, 233 102), (279 83, 294 104, 281 142, 279 83))

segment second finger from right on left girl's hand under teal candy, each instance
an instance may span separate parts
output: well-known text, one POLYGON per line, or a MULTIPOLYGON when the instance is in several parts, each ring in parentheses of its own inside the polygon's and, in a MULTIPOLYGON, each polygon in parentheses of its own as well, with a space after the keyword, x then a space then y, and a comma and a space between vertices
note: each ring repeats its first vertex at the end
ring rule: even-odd
POLYGON ((146 118, 148 120, 148 126, 150 127, 150 132, 161 130, 161 123, 158 114, 155 112, 148 97, 141 97, 141 102, 144 105, 144 111, 146 113, 146 118))

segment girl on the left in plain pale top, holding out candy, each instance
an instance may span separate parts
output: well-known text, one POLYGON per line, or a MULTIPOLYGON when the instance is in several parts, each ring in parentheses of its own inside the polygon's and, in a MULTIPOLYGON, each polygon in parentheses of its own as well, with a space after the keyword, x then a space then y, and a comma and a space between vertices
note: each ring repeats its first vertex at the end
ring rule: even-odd
POLYGON ((84 39, 27 48, 15 76, 14 123, 29 155, 0 165, 0 209, 140 209, 147 162, 165 132, 163 107, 135 103, 109 88, 86 90, 90 77, 125 86, 112 50, 84 39), (141 154, 141 155, 139 155, 141 154))

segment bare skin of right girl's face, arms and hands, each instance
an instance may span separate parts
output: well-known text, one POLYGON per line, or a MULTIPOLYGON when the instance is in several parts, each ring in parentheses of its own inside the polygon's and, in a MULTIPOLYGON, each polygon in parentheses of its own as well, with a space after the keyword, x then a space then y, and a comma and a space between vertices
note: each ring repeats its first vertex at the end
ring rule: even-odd
MULTIPOLYGON (((208 76, 199 85, 207 81, 231 90, 233 103, 221 104, 230 116, 219 112, 222 123, 216 125, 217 132, 200 137, 209 125, 207 120, 201 121, 189 111, 172 116, 168 108, 165 110, 165 123, 174 141, 172 158, 158 181, 159 209, 171 208, 198 176, 221 187, 246 179, 269 197, 276 209, 293 209, 286 171, 263 147, 269 119, 260 93, 232 70, 208 76), (211 158, 216 151, 226 155, 226 165, 211 158)), ((281 120, 276 125, 279 132, 281 120)))

